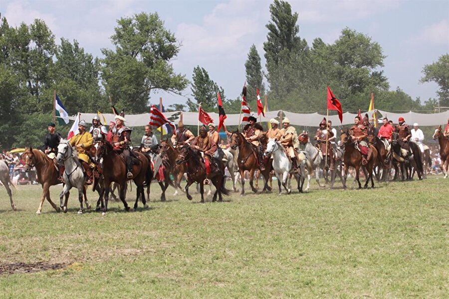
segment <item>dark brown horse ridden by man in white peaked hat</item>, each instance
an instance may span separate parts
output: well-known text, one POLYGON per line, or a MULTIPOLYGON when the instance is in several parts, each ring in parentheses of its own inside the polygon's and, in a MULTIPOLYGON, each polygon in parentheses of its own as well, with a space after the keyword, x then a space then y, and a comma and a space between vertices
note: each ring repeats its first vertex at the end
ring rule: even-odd
MULTIPOLYGON (((123 156, 116 151, 114 151, 112 145, 108 141, 100 141, 95 144, 96 152, 94 156, 94 162, 98 163, 101 158, 103 158, 103 178, 104 178, 104 209, 102 215, 106 215, 108 210, 108 200, 109 191, 111 188, 111 183, 116 182, 120 186, 120 200, 125 207, 125 211, 129 211, 130 208, 125 201, 125 185, 129 178, 127 178, 126 173, 126 163, 123 156)), ((131 154, 133 155, 133 154, 131 154)), ((137 210, 137 202, 139 201, 139 196, 142 196, 142 204, 144 208, 148 208, 147 201, 145 200, 144 187, 148 186, 153 177, 151 171, 149 159, 142 153, 134 152, 134 155, 138 160, 138 164, 133 165, 132 168, 132 180, 137 186, 136 202, 134 204, 134 210, 137 210)))

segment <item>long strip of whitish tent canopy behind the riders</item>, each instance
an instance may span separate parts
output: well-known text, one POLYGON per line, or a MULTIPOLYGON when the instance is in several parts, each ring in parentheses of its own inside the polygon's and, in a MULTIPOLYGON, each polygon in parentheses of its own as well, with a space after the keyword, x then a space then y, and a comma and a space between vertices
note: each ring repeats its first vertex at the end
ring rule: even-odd
MULTIPOLYGON (((275 118, 279 115, 277 111, 269 111, 265 112, 265 117, 260 114, 260 118, 257 117, 257 120, 260 119, 262 122, 268 122, 271 118, 275 118)), ((288 111, 282 111, 289 119, 290 124, 297 126, 307 126, 307 127, 316 127, 320 123, 320 121, 326 115, 318 114, 318 113, 294 113, 288 111)), ((392 113, 388 111, 378 110, 382 114, 382 117, 387 117, 390 120, 393 120, 394 123, 398 123, 399 117, 404 117, 406 123, 412 125, 413 123, 418 123, 420 126, 437 126, 441 124, 446 124, 449 119, 449 110, 440 113, 432 113, 432 114, 424 114, 424 113, 416 113, 416 112, 407 112, 407 113, 392 113)), ((189 126, 198 125, 198 112, 181 112, 183 123, 189 126)), ((164 115, 167 118, 171 118, 175 114, 179 114, 176 116, 174 120, 175 124, 178 124, 178 121, 181 118, 180 111, 176 112, 164 112, 164 115)), ((363 112, 362 115, 368 113, 369 118, 371 119, 371 115, 373 111, 363 112)), ((92 118, 96 115, 96 113, 81 113, 81 119, 84 119, 86 123, 92 123, 92 118)), ((106 118, 106 121, 114 121, 114 114, 103 114, 106 118)), ((214 119, 215 123, 218 124, 219 114, 212 112, 209 115, 214 119)), ((354 117, 357 114, 353 113, 343 113, 343 124, 349 125, 354 123, 354 117)), ((226 114, 227 118, 225 120, 225 125, 235 126, 238 125, 240 114, 226 114)), ((254 115, 255 116, 255 115, 254 115)), ((380 117, 380 116, 377 116, 380 117)), ((76 116, 71 116, 69 119, 74 120, 76 116)), ((142 114, 129 114, 125 115, 126 125, 132 127, 145 126, 148 124, 150 120, 150 113, 142 113, 142 114)), ((340 119, 338 115, 330 115, 329 119, 332 120, 334 126, 340 125, 340 119)))

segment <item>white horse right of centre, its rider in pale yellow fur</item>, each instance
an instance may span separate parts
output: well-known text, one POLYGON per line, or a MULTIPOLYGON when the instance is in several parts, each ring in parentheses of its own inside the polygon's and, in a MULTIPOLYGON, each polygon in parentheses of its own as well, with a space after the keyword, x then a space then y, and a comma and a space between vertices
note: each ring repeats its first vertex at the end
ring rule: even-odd
MULTIPOLYGON (((273 169, 277 177, 277 185, 279 187, 279 194, 281 194, 280 182, 282 179, 282 186, 284 187, 287 194, 290 194, 291 189, 287 188, 287 178, 288 174, 293 174, 296 182, 298 184, 298 191, 302 193, 302 187, 304 185, 304 164, 299 163, 299 168, 301 174, 298 174, 293 169, 293 163, 285 154, 284 147, 276 141, 276 139, 270 138, 266 145, 266 150, 264 153, 265 156, 273 156, 273 169)), ((301 153, 303 158, 305 158, 304 154, 301 153)), ((296 158, 295 158, 296 159, 296 158)))

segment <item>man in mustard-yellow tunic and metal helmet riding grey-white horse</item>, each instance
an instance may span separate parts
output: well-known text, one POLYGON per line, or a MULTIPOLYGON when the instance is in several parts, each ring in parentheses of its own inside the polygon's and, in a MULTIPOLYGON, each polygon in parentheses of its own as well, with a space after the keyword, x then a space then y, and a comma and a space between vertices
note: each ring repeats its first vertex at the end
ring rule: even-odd
POLYGON ((90 158, 86 154, 89 152, 90 147, 93 143, 92 134, 86 132, 86 122, 81 120, 78 123, 79 133, 70 138, 69 143, 71 146, 75 147, 78 151, 78 160, 84 168, 85 174, 87 175, 87 185, 92 184, 92 168, 90 167, 90 158))

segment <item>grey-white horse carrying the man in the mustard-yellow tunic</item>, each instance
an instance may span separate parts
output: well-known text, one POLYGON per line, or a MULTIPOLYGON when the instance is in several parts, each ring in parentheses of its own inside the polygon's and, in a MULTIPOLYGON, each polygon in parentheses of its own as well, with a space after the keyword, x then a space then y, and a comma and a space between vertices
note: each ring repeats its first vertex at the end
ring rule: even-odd
MULTIPOLYGON (((86 177, 84 177, 83 166, 78 161, 78 151, 72 148, 68 140, 61 140, 58 145, 58 154, 56 155, 58 163, 64 162, 64 188, 59 194, 60 207, 64 213, 67 212, 67 198, 62 204, 62 198, 69 193, 72 187, 78 189, 78 200, 80 208, 78 214, 83 214, 83 191, 86 177)), ((90 204, 86 198, 86 207, 90 209, 90 204)))

